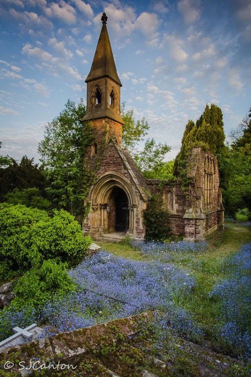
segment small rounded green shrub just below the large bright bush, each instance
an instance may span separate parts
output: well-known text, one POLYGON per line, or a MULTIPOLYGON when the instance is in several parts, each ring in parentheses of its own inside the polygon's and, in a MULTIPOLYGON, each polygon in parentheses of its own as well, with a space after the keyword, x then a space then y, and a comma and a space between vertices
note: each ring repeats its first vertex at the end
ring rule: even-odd
POLYGON ((14 288, 15 299, 11 308, 38 309, 53 297, 61 298, 66 292, 74 291, 75 285, 67 273, 67 267, 67 263, 48 259, 43 261, 41 268, 25 272, 14 288))

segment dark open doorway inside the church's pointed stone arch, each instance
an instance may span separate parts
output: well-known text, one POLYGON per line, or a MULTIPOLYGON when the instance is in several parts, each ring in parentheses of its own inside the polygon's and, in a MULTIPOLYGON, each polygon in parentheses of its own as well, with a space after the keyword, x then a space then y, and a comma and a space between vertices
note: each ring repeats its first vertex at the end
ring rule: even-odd
POLYGON ((108 231, 126 233, 129 229, 129 200, 127 194, 114 186, 107 200, 108 231))

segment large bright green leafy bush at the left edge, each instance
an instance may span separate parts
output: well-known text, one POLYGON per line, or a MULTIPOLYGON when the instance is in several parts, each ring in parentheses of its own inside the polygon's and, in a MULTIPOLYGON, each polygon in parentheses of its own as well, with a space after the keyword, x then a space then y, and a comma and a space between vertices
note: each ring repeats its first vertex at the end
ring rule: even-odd
POLYGON ((50 258, 76 265, 90 243, 79 223, 64 210, 54 211, 51 218, 45 211, 23 205, 0 205, 2 273, 28 270, 50 258))

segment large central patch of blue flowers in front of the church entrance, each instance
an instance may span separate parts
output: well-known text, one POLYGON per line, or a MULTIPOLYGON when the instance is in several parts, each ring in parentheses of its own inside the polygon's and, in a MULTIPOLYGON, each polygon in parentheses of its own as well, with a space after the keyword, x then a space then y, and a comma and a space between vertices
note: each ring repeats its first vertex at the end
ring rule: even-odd
MULTIPOLYGON (((174 295, 189 294, 196 284, 195 278, 172 264, 133 261, 99 251, 69 274, 79 290, 48 303, 40 313, 42 322, 59 331, 151 309, 164 310, 173 318, 182 317, 172 321, 180 333, 197 331, 189 314, 176 309, 172 301, 174 295)), ((48 334, 49 329, 46 331, 48 334)))

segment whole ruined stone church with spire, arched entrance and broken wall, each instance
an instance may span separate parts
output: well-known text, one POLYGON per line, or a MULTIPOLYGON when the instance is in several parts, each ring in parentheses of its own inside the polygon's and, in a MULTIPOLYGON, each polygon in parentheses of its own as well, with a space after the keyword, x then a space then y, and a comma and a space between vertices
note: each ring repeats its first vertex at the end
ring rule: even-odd
POLYGON ((87 107, 83 121, 90 122, 95 136, 87 159, 93 170, 98 161, 98 168, 97 179, 85 201, 90 211, 84 221, 84 233, 94 238, 117 233, 144 239, 144 211, 151 195, 159 194, 169 214, 168 226, 172 234, 182 235, 187 240, 204 239, 205 235, 224 227, 217 158, 202 148, 192 149, 187 172, 192 193, 189 198, 181 183, 146 179, 141 174, 129 152, 122 148, 122 84, 116 71, 105 14, 101 20, 100 37, 85 80, 87 107))

